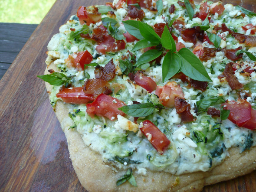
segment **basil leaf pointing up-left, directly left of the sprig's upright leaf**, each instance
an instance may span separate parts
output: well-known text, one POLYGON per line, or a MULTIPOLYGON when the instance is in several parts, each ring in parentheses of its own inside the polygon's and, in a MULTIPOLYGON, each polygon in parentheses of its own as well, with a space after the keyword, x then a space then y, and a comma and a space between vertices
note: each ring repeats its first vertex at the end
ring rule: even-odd
POLYGON ((161 38, 155 33, 153 27, 147 23, 139 21, 139 29, 141 35, 150 42, 161 43, 161 38))

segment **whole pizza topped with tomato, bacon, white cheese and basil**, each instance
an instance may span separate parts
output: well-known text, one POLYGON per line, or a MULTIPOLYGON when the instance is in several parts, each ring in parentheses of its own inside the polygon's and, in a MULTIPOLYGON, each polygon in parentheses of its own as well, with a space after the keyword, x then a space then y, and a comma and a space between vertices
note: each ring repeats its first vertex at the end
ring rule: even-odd
POLYGON ((193 0, 78 7, 50 104, 89 191, 200 191, 256 169, 256 13, 193 0))

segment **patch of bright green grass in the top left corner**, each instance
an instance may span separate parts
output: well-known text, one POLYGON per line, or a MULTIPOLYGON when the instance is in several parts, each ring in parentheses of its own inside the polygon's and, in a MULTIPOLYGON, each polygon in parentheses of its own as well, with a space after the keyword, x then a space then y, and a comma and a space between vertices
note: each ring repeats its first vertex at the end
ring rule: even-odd
POLYGON ((0 0, 0 22, 39 24, 55 0, 0 0))

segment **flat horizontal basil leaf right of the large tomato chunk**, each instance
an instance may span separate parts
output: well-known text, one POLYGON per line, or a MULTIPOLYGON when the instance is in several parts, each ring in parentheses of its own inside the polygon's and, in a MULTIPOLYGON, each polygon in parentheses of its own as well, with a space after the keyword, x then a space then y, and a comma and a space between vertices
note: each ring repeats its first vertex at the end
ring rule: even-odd
POLYGON ((132 117, 146 117, 154 112, 155 106, 153 103, 142 103, 125 105, 118 109, 132 117))

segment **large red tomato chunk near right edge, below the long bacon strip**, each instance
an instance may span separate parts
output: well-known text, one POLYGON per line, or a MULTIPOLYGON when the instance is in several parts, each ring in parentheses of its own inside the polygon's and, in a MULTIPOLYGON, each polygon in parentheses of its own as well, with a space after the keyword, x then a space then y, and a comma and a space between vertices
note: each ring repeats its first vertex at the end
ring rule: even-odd
POLYGON ((227 101, 223 106, 224 109, 230 110, 228 119, 239 127, 243 127, 243 125, 251 119, 252 107, 250 103, 245 100, 238 99, 237 102, 227 101))

